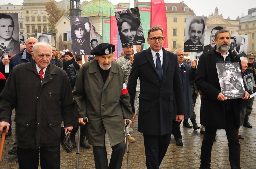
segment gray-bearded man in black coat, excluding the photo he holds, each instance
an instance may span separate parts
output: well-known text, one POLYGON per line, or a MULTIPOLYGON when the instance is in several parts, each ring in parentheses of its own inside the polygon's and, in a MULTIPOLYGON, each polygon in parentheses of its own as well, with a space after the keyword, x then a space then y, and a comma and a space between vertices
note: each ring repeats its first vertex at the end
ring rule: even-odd
MULTIPOLYGON (((221 92, 216 63, 241 61, 238 55, 229 50, 230 33, 219 30, 215 33, 216 46, 200 56, 195 84, 202 91, 200 123, 205 126, 205 135, 201 147, 200 169, 210 169, 211 151, 217 129, 225 129, 229 147, 231 168, 240 168, 240 145, 238 129, 240 126, 241 99, 226 99, 221 92)), ((242 71, 240 71, 242 72, 242 71)), ((248 99, 245 91, 242 99, 248 99)))

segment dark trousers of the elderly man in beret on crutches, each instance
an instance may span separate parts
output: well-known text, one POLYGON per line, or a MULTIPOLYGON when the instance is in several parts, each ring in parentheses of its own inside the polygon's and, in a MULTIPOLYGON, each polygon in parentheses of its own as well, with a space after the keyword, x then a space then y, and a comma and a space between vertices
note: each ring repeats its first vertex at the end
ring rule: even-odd
POLYGON ((108 165, 106 145, 104 147, 93 146, 95 169, 120 169, 125 154, 125 142, 112 146, 112 153, 108 165))

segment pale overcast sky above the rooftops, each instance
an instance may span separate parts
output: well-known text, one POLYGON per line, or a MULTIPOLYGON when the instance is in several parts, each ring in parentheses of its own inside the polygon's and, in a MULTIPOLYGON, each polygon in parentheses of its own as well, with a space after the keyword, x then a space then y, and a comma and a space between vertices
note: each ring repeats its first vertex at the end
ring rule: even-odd
MULTIPOLYGON (((60 0, 56 0, 57 2, 60 0)), ((82 3, 83 0, 81 0, 82 3)), ((90 0, 88 0, 90 1, 90 0)), ((129 2, 129 0, 109 0, 113 5, 118 4, 119 2, 129 2)), ((134 0, 130 0, 130 8, 134 7, 134 0)), ((150 0, 138 0, 144 2, 150 2, 150 0)), ((165 0, 167 3, 180 3, 182 0, 165 0)), ((222 14, 224 19, 227 19, 228 16, 230 19, 236 19, 237 16, 243 14, 248 15, 248 9, 256 8, 256 0, 183 0, 183 2, 190 7, 196 16, 208 16, 211 13, 214 14, 215 8, 218 7, 219 15, 222 14)), ((4 0, 0 1, 0 5, 12 3, 14 5, 21 5, 23 0, 4 0)))

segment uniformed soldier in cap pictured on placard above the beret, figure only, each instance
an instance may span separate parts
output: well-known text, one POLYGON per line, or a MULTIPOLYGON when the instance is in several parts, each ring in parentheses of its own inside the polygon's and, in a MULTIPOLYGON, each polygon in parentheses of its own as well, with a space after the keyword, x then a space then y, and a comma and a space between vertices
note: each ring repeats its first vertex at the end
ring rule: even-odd
POLYGON ((76 18, 72 25, 76 39, 72 40, 72 52, 74 55, 86 55, 90 51, 90 26, 76 18), (86 53, 87 51, 87 53, 86 53))

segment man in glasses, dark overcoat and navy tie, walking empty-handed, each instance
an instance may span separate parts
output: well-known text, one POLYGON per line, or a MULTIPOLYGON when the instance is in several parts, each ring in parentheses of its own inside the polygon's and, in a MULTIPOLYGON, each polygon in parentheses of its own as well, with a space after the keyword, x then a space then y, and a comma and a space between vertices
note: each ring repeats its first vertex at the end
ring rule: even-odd
POLYGON ((177 104, 176 121, 185 114, 184 95, 177 55, 162 48, 163 30, 148 30, 150 48, 134 55, 127 89, 132 111, 137 79, 140 79, 138 131, 144 135, 146 166, 159 168, 171 141, 172 113, 177 104))

